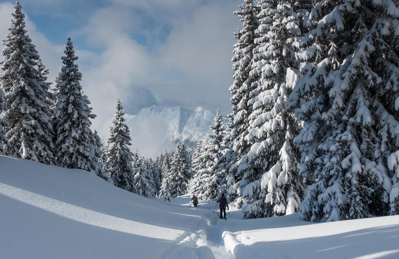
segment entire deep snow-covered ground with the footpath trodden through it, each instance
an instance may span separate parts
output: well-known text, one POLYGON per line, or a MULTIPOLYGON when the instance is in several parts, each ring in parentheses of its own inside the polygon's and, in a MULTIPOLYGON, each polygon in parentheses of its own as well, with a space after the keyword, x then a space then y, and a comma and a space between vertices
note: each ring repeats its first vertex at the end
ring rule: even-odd
POLYGON ((227 221, 215 202, 164 203, 87 171, 0 155, 0 258, 398 259, 399 216, 227 221))

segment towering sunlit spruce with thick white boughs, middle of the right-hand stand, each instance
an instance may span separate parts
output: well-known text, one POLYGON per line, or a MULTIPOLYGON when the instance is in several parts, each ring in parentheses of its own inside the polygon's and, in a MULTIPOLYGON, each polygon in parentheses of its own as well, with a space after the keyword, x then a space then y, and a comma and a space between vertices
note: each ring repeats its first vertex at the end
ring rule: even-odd
POLYGON ((257 89, 250 94, 253 109, 245 136, 251 149, 237 168, 244 173, 239 185, 246 218, 298 212, 303 192, 298 150, 292 141, 298 123, 287 109, 288 95, 298 81, 299 22, 290 1, 263 0, 258 18, 250 72, 257 89))

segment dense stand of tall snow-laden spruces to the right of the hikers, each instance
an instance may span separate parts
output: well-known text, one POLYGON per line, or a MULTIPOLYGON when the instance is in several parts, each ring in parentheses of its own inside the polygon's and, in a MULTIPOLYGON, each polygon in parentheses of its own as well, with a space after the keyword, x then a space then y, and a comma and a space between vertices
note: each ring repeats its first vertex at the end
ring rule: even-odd
POLYGON ((398 5, 245 0, 235 14, 230 123, 194 151, 190 191, 219 188, 246 218, 398 214, 398 5))

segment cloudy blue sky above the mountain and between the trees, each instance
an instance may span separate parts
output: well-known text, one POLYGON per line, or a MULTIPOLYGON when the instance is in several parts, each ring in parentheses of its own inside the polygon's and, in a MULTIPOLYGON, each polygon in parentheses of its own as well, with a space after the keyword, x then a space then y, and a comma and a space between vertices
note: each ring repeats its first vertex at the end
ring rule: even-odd
MULTIPOLYGON (((107 137, 120 98, 126 110, 154 103, 227 114, 232 84, 233 11, 241 0, 20 0, 49 81, 71 37, 93 126, 107 137)), ((14 1, 0 0, 0 37, 14 1)), ((1 36, 3 35, 3 36, 1 36)))

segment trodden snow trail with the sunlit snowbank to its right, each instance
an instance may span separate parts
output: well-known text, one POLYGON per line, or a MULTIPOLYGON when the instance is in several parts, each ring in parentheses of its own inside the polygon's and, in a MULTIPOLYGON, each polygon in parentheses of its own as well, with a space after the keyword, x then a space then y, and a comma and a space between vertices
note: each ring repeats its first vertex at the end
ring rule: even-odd
MULTIPOLYGON (((184 204, 184 198, 172 201, 184 204)), ((213 212, 215 202, 201 202, 198 208, 213 212)), ((209 217, 204 231, 215 258, 399 258, 398 215, 328 223, 304 222, 298 213, 242 220, 240 210, 227 214, 227 221, 218 214, 209 217)))

